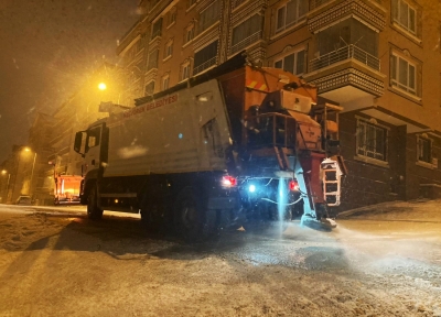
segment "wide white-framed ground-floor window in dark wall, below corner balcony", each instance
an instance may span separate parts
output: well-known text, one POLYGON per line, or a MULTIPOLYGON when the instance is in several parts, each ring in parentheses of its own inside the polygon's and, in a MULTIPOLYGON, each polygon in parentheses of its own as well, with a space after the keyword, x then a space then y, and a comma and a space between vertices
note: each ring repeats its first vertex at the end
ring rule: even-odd
POLYGON ((375 123, 358 120, 357 154, 375 160, 387 160, 387 130, 375 123))

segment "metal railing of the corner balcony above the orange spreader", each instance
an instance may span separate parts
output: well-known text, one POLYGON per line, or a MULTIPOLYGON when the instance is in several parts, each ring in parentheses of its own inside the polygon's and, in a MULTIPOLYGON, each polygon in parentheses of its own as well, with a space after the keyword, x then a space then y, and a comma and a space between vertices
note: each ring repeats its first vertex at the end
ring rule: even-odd
POLYGON ((370 55, 362 48, 351 44, 331 53, 324 54, 319 58, 312 59, 310 62, 310 72, 314 72, 346 59, 356 59, 375 70, 380 70, 380 63, 378 57, 375 57, 374 55, 370 55))

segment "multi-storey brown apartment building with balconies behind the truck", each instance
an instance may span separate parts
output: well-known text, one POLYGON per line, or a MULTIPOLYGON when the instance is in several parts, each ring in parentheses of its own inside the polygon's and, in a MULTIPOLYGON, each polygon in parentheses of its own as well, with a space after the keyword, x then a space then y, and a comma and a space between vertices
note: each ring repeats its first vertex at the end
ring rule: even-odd
POLYGON ((440 4, 415 0, 143 0, 117 54, 132 96, 246 50, 343 107, 341 209, 441 196, 440 4))

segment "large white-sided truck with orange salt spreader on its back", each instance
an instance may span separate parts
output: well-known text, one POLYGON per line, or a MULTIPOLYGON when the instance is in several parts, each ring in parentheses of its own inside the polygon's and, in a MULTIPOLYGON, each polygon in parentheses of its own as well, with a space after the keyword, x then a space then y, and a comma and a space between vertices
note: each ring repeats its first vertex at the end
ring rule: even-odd
POLYGON ((316 87, 246 53, 78 131, 80 203, 136 212, 189 240, 287 223, 335 227, 337 112, 316 87), (333 119, 333 120, 332 120, 333 119))

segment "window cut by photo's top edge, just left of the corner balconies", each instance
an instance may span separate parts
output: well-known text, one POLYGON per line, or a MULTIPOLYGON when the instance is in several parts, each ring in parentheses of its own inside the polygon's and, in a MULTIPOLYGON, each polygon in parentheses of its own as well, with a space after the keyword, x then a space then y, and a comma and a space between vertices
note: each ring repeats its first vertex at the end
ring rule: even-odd
POLYGON ((308 13, 308 1, 291 0, 287 4, 277 9, 276 15, 276 33, 294 25, 308 13))

